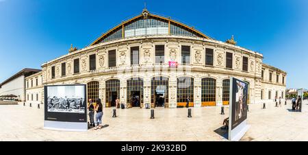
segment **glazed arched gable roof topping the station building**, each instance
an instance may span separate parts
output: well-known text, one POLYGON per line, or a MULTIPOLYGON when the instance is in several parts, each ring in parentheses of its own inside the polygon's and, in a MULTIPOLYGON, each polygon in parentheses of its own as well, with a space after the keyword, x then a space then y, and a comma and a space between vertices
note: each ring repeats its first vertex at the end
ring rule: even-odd
POLYGON ((113 29, 110 29, 110 31, 97 38, 97 40, 95 40, 91 45, 135 36, 168 34, 175 36, 197 36, 201 38, 209 38, 192 27, 188 27, 187 25, 183 25, 182 23, 162 16, 149 14, 147 10, 144 10, 139 16, 129 19, 113 29))

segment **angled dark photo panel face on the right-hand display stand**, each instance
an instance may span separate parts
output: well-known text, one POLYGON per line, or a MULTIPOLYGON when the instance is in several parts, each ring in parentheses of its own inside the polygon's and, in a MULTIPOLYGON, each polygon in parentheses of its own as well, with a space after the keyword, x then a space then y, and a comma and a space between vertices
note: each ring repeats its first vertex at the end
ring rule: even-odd
POLYGON ((248 84, 233 78, 232 84, 232 129, 247 118, 248 84))

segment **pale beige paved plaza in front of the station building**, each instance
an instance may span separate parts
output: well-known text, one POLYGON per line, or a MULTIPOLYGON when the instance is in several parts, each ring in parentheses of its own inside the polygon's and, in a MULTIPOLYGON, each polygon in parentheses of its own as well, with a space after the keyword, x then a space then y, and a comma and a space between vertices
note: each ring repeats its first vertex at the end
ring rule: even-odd
MULTIPOLYGON (((308 102, 303 112, 292 112, 291 103, 274 107, 251 104, 248 124, 251 125, 241 141, 308 141, 308 102)), ((41 105, 42 106, 42 105, 41 105)), ((28 104, 0 106, 0 141, 228 141, 221 130, 222 121, 229 115, 220 115, 220 107, 155 108, 155 119, 149 109, 118 109, 112 118, 112 108, 104 108, 101 130, 64 132, 44 130, 44 109, 28 104)))

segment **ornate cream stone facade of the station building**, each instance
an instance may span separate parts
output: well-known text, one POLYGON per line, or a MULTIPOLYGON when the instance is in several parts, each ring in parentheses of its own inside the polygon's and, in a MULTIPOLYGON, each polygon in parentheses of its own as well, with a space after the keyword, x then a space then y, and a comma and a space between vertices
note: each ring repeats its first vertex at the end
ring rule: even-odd
MULTIPOLYGON (((250 103, 263 102, 266 91, 285 92, 287 74, 262 62, 263 55, 235 45, 222 43, 207 38, 189 36, 139 36, 123 38, 107 43, 99 43, 84 49, 70 52, 60 58, 42 64, 42 83, 51 84, 88 84, 99 82, 99 98, 105 105, 105 82, 110 79, 120 80, 120 103, 127 104, 127 80, 132 77, 143 79, 144 104, 151 104, 151 79, 155 76, 167 77, 168 108, 177 107, 177 78, 185 76, 194 78, 194 106, 201 106, 201 80, 216 80, 216 106, 222 106, 222 80, 231 77, 249 82, 250 103), (155 64, 155 45, 164 45, 164 63, 155 64), (190 64, 181 64, 181 47, 190 46, 190 64), (131 65, 131 47, 139 47, 139 64, 131 65), (108 51, 116 50, 116 67, 108 67, 108 51), (205 65, 205 49, 214 49, 213 66, 205 65), (226 52, 233 53, 233 68, 226 69, 226 52), (89 56, 96 54, 96 70, 90 71, 89 56), (248 57, 248 71, 243 71, 243 56, 248 57), (73 73, 73 60, 79 58, 80 73, 73 73), (179 62, 177 68, 169 67, 168 62, 179 62), (66 62, 66 76, 61 76, 61 63, 66 62), (51 67, 55 66, 55 78, 51 78, 51 67), (272 71, 272 82, 264 75, 272 71), (279 74, 279 83, 276 82, 279 74), (264 76, 265 77, 265 76, 264 76), (284 77, 284 83, 282 83, 284 77)), ((283 96, 284 98, 284 96, 283 96)), ((144 104, 142 107, 144 107, 144 104)))

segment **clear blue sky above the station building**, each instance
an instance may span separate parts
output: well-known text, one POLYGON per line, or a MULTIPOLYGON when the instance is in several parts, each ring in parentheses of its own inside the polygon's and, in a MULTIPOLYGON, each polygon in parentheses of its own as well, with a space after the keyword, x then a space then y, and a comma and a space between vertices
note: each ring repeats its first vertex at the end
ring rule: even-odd
MULTIPOLYGON (((287 88, 308 88, 308 1, 146 0, 155 14, 194 26, 216 40, 264 54, 264 62, 287 71, 287 88)), ((0 82, 86 47, 108 29, 142 12, 144 0, 0 0, 0 82)))

